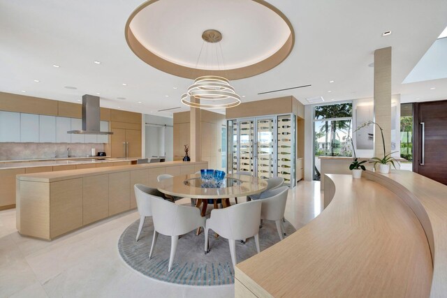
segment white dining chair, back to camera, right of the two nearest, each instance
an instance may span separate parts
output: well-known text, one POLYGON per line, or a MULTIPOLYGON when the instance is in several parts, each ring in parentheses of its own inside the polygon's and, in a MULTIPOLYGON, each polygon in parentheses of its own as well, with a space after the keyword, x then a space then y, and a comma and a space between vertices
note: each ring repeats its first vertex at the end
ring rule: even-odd
POLYGON ((205 253, 208 253, 208 230, 217 232, 228 239, 231 261, 236 265, 236 240, 254 237, 256 251, 259 248, 259 222, 261 221, 261 200, 235 204, 224 209, 213 209, 205 228, 205 253))

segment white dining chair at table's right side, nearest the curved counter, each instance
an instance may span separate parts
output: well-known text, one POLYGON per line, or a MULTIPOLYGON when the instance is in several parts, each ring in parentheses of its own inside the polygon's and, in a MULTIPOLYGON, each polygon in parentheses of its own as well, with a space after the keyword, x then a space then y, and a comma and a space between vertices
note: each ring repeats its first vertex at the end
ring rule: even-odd
POLYGON ((288 186, 281 186, 279 188, 265 191, 261 194, 262 202, 261 208, 261 227, 262 221, 274 221, 277 225, 279 239, 283 239, 283 234, 286 235, 284 228, 284 211, 286 211, 288 186))

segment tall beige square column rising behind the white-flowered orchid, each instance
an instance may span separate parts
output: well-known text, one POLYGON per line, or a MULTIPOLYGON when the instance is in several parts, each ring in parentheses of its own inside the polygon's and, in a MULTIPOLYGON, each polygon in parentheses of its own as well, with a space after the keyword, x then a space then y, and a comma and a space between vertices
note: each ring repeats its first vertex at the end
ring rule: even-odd
MULTIPOLYGON (((383 128, 388 154, 391 151, 391 47, 374 51, 374 122, 383 128)), ((383 157, 383 142, 377 126, 374 126, 374 156, 383 157)))

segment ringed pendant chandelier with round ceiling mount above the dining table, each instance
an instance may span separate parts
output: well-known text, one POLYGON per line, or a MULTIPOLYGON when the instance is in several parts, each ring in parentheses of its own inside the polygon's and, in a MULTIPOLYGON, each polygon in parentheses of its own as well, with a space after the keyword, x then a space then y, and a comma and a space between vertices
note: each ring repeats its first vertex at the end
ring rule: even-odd
MULTIPOLYGON (((222 34, 217 30, 210 29, 203 32, 202 38, 204 43, 219 43, 222 40, 222 34)), ((200 50, 198 61, 201 52, 202 50, 200 50)), ((222 53, 221 57, 223 60, 222 53)), ((219 64, 218 55, 217 62, 219 64)), ((225 77, 205 75, 196 78, 193 84, 189 86, 188 91, 182 94, 182 103, 189 107, 221 109, 239 105, 240 96, 236 94, 234 87, 225 77), (191 100, 191 98, 195 100, 191 100)))

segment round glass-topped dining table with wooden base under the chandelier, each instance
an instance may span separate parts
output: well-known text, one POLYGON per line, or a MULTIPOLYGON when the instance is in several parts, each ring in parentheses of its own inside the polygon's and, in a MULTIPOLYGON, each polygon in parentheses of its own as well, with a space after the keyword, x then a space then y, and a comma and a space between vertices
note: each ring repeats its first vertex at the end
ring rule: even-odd
POLYGON ((196 199, 196 207, 200 209, 202 205, 200 214, 205 216, 209 199, 214 200, 214 208, 217 208, 219 199, 223 208, 229 207, 229 198, 261 193, 267 189, 267 181, 248 175, 227 174, 220 187, 207 187, 200 174, 187 174, 163 179, 157 183, 157 189, 173 197, 196 199))

